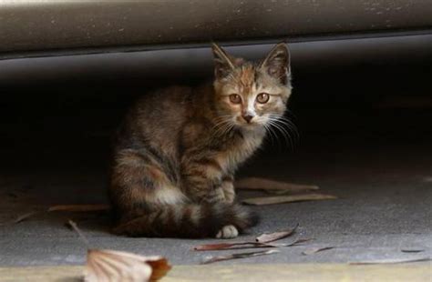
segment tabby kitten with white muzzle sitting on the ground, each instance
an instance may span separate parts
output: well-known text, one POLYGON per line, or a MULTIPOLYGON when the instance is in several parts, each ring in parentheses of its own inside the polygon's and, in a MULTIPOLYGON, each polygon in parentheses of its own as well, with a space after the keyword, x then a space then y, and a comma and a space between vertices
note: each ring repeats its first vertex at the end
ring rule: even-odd
POLYGON ((214 82, 143 96, 118 130, 109 195, 114 231, 132 237, 237 237, 257 223, 234 203, 234 173, 282 118, 289 52, 252 63, 213 45, 214 82))

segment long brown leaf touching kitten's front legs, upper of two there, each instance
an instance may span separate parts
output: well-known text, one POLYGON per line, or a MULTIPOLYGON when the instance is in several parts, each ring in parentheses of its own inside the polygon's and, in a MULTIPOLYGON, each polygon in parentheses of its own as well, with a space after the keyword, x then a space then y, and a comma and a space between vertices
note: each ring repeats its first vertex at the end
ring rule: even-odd
POLYGON ((301 192, 319 189, 318 186, 299 185, 281 181, 275 181, 260 177, 246 177, 237 180, 234 183, 237 189, 252 189, 252 190, 285 190, 289 192, 301 192))

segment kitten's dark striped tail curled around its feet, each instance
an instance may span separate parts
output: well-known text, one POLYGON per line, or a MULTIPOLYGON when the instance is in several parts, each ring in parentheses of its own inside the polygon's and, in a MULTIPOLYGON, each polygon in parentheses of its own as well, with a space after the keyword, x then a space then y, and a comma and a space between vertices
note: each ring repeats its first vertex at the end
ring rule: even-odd
POLYGON ((161 206, 114 228, 130 237, 215 237, 222 227, 239 232, 258 223, 258 217, 238 204, 186 204, 161 206))

